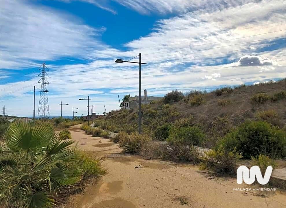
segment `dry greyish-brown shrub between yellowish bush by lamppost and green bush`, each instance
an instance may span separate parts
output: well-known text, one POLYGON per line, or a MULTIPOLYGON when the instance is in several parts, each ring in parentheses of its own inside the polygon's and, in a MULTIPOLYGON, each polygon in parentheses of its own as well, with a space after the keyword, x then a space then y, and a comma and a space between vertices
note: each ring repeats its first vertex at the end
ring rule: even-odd
POLYGON ((140 155, 148 159, 163 159, 168 157, 169 153, 167 150, 166 142, 151 142, 145 144, 141 151, 140 155))

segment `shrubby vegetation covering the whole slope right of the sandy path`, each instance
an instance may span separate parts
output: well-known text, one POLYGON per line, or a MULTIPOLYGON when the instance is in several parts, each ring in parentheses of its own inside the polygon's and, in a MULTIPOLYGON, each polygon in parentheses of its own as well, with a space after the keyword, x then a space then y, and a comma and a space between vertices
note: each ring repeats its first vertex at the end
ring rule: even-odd
POLYGON ((200 163, 215 175, 235 174, 242 160, 265 166, 285 158, 285 79, 208 93, 173 90, 142 105, 141 135, 137 121, 138 109, 111 111, 95 120, 95 128, 82 130, 95 136, 119 132, 110 139, 125 152, 200 163))

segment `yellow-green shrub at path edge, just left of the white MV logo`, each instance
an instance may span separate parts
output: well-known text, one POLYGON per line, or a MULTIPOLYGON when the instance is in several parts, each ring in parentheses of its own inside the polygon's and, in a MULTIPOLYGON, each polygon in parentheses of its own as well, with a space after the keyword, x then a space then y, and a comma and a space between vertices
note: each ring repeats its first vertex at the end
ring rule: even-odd
POLYGON ((224 148, 210 150, 205 152, 201 168, 211 170, 215 175, 235 175, 237 170, 237 161, 241 155, 234 148, 232 151, 227 151, 224 148))

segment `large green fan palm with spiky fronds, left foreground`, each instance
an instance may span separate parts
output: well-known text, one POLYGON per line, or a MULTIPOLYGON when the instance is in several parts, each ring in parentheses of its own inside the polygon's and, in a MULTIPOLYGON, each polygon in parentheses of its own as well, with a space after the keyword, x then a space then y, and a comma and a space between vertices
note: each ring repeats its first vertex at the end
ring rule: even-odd
POLYGON ((70 164, 73 141, 42 124, 14 122, 1 145, 1 207, 52 207, 63 187, 80 180, 70 164))

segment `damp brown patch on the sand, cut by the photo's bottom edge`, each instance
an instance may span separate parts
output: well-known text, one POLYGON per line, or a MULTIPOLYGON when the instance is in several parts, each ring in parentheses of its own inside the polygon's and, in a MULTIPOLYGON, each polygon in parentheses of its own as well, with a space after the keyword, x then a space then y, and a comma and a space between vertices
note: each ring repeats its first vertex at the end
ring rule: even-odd
POLYGON ((105 200, 97 204, 93 204, 92 207, 100 208, 136 208, 134 204, 123 198, 114 198, 110 200, 105 200))

